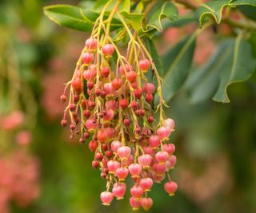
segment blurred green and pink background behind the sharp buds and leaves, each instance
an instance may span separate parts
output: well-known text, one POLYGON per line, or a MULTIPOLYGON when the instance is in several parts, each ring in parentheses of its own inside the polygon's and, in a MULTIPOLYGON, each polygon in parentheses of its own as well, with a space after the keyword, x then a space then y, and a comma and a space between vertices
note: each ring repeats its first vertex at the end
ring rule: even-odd
MULTIPOLYGON (((44 17, 42 7, 56 3, 82 2, 0 1, 0 213, 133 212, 128 195, 102 206, 105 181, 91 168, 93 155, 59 124, 63 84, 89 35, 44 17)), ((156 39, 159 52, 194 27, 167 29, 156 39)), ((198 37, 194 67, 214 53, 216 39, 214 30, 198 37)), ((155 184, 150 212, 256 212, 255 79, 231 85, 230 104, 191 105, 185 89, 170 101, 179 190, 170 198, 155 184)))

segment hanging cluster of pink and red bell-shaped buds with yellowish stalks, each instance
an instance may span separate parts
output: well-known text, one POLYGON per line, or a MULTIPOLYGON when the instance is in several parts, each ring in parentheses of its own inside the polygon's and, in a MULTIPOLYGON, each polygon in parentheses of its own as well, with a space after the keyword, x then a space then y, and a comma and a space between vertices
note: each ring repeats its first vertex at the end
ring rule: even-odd
POLYGON ((61 96, 62 102, 68 101, 62 126, 68 124, 69 116, 70 137, 78 135, 81 144, 90 140, 92 166, 106 179, 106 191, 100 195, 103 205, 110 205, 114 197, 123 198, 124 182, 130 176, 134 180, 130 206, 149 210, 153 200, 147 194, 154 182, 166 177, 164 189, 168 194, 177 190, 169 174, 176 164, 175 147, 169 142, 174 120, 164 115, 161 78, 138 34, 133 36, 126 27, 130 41, 124 56, 110 37, 109 23, 105 26, 102 18, 95 22, 61 96), (155 80, 152 77, 150 82, 147 72, 155 80), (158 101, 154 101, 155 96, 158 101))

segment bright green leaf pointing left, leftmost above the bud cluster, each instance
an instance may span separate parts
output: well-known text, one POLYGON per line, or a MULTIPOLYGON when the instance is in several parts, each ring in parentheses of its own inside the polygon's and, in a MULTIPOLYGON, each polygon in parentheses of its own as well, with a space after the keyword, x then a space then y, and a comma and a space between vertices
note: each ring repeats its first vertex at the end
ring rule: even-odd
POLYGON ((90 20, 97 17, 97 14, 90 12, 90 18, 86 18, 88 13, 85 13, 80 7, 69 5, 54 5, 44 7, 44 13, 51 21, 60 26, 66 26, 73 30, 90 32, 94 22, 90 20), (86 14, 86 16, 84 15, 86 14))

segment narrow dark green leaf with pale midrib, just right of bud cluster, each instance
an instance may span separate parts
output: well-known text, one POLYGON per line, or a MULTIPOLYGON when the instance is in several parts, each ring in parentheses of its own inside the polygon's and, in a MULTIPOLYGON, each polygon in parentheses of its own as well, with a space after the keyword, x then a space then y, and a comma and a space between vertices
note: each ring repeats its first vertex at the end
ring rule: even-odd
POLYGON ((164 70, 162 94, 166 102, 181 89, 189 75, 197 35, 196 32, 191 37, 178 42, 162 58, 164 70))

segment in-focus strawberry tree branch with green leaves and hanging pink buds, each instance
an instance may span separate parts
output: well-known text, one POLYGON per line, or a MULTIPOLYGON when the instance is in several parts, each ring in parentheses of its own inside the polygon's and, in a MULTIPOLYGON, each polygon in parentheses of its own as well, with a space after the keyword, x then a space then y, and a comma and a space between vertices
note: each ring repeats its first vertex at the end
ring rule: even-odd
POLYGON ((45 7, 58 25, 90 33, 61 94, 66 103, 61 124, 94 152, 92 166, 106 179, 103 205, 130 191, 130 206, 149 210, 149 191, 162 181, 174 195, 178 186, 170 171, 176 156, 170 136, 175 124, 165 108, 180 89, 189 91, 194 102, 210 97, 229 102, 227 87, 250 78, 256 68, 254 6, 254 0, 99 0, 81 7, 45 7), (189 12, 179 14, 181 8, 189 12), (159 57, 154 37, 190 23, 197 29, 159 57), (218 40, 209 60, 193 65, 197 37, 209 29, 221 35, 220 24, 230 33, 218 40))

